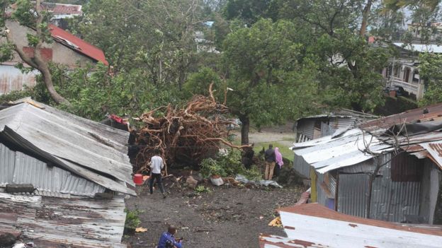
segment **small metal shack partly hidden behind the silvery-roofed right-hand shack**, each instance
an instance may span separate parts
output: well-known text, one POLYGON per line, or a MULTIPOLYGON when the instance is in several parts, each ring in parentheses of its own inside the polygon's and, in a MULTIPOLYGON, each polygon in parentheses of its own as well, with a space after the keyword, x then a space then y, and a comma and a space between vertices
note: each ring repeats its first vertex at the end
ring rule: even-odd
MULTIPOLYGON (((329 136, 336 131, 339 132, 341 130, 351 129, 357 124, 377 118, 378 117, 372 114, 365 114, 363 112, 346 109, 304 117, 297 119, 295 123, 295 140, 299 143, 329 136)), ((310 165, 306 164, 305 161, 299 158, 296 154, 293 163, 295 165, 295 170, 299 172, 302 177, 310 177, 310 165)))

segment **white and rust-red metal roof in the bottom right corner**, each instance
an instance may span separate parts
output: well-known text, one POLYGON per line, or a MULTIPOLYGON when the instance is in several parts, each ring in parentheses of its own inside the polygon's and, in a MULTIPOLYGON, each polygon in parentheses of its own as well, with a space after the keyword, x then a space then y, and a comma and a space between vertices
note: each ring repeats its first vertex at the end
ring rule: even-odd
POLYGON ((280 208, 278 212, 288 237, 261 234, 261 248, 414 248, 442 244, 442 230, 433 225, 368 220, 336 213, 317 203, 280 208))

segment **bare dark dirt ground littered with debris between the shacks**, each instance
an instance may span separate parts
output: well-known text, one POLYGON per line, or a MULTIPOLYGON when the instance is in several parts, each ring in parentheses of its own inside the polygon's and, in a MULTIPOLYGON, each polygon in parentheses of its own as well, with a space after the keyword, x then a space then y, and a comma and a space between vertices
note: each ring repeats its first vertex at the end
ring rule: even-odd
POLYGON ((214 187, 212 192, 196 194, 191 189, 170 188, 162 199, 159 191, 149 195, 140 187, 139 197, 127 200, 130 210, 139 209, 141 225, 147 232, 125 236, 128 247, 155 247, 167 225, 176 225, 176 237, 183 237, 184 247, 258 247, 259 233, 285 236, 282 228, 269 227, 276 217, 276 208, 292 206, 305 189, 247 189, 246 187, 214 187))

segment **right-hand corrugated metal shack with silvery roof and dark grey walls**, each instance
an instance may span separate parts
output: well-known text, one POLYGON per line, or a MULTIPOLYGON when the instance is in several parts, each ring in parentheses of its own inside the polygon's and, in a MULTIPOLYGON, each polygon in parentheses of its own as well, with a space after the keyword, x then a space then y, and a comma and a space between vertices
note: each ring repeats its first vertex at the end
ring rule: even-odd
POLYGON ((313 202, 363 218, 433 224, 441 207, 440 147, 442 105, 432 105, 293 149, 310 166, 313 202))

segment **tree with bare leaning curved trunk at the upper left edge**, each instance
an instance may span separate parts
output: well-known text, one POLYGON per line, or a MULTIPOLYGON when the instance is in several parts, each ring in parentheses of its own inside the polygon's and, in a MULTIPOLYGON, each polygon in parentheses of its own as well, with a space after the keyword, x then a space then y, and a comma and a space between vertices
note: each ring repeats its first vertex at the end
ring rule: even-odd
POLYGON ((4 61, 11 59, 13 54, 8 49, 13 49, 26 64, 40 71, 51 98, 58 104, 63 103, 69 105, 69 101, 55 90, 49 62, 43 59, 41 53, 44 44, 52 42, 50 30, 48 29, 50 13, 42 10, 40 0, 35 1, 35 4, 28 0, 15 1, 16 9, 12 15, 7 13, 10 7, 9 4, 11 4, 11 1, 1 1, 1 31, 4 37, 6 37, 7 42, 6 45, 2 46, 4 49, 1 50, 1 58, 4 59, 4 61), (23 47, 18 45, 18 42, 21 41, 16 40, 17 38, 14 37, 13 33, 19 31, 8 28, 9 25, 12 25, 12 22, 18 22, 23 27, 28 28, 26 37, 28 38, 28 45, 33 47, 33 57, 26 54, 26 52, 23 51, 23 47))

